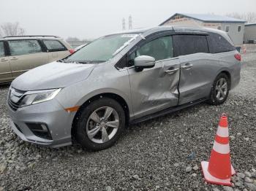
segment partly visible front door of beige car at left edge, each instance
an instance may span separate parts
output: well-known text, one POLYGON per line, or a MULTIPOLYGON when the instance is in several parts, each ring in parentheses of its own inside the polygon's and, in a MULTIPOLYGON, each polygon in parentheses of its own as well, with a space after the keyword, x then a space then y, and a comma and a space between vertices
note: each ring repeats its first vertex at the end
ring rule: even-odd
POLYGON ((4 42, 0 41, 0 83, 12 81, 10 62, 4 47, 4 42))

